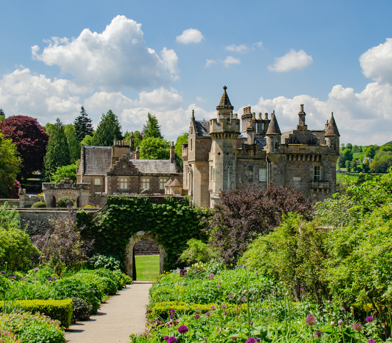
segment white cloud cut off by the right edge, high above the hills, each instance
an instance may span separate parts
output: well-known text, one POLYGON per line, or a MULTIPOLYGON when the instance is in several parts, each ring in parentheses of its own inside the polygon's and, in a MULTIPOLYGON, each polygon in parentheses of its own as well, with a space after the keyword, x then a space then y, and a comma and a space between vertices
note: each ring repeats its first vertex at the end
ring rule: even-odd
POLYGON ((392 83, 392 39, 370 48, 359 57, 359 62, 366 78, 392 83))

